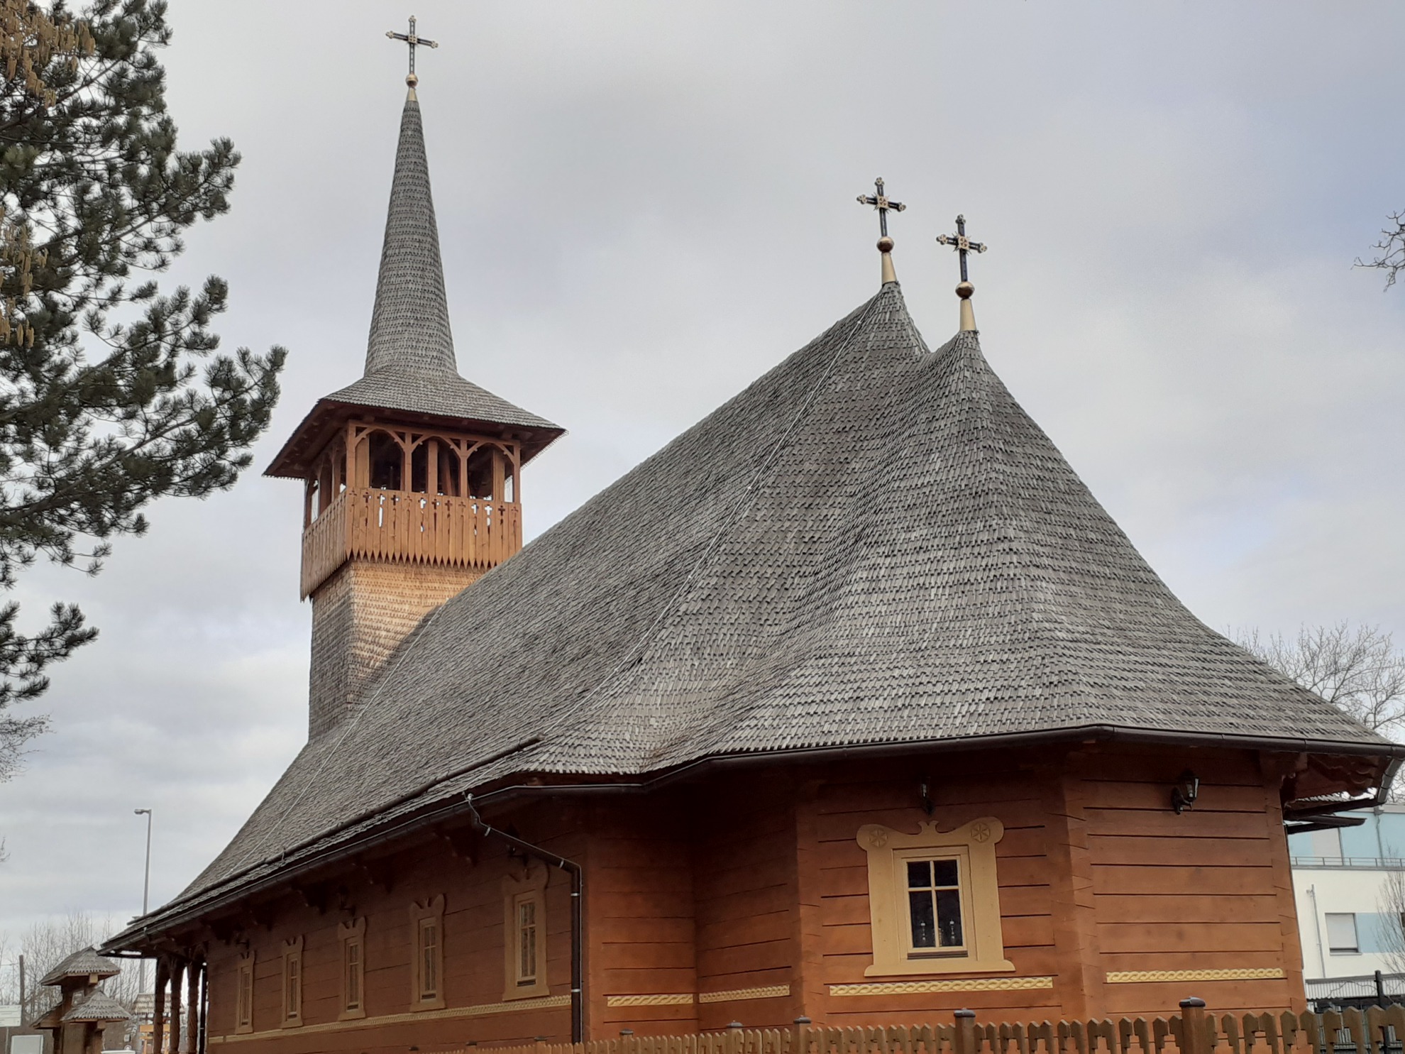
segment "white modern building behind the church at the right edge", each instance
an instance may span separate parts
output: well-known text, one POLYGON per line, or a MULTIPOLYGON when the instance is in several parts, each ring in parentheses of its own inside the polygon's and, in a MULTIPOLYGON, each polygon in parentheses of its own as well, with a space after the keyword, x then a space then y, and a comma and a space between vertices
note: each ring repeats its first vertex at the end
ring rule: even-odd
POLYGON ((1364 822, 1288 836, 1309 982, 1405 972, 1405 905, 1388 892, 1405 873, 1405 805, 1342 815, 1364 822))

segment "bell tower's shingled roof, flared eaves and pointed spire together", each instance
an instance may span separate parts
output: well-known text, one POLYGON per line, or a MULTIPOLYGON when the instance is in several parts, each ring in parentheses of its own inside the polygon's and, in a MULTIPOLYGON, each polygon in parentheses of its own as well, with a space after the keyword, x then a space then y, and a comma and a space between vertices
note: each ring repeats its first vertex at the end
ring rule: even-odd
POLYGON ((308 458, 355 408, 396 410, 437 423, 468 423, 490 431, 509 430, 524 438, 524 461, 562 433, 561 426, 458 374, 424 126, 413 89, 400 114, 365 372, 361 379, 318 401, 266 475, 302 478, 308 458))

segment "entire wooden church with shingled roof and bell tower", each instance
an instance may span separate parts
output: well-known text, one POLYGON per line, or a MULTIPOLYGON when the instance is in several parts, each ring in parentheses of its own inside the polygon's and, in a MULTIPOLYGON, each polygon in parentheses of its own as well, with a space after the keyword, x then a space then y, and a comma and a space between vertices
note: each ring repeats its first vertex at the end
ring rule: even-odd
POLYGON ((1302 1009, 1284 824, 1380 801, 1401 748, 1191 616, 969 284, 932 350, 880 249, 875 295, 523 548, 562 430, 458 374, 412 79, 365 374, 268 468, 303 482, 308 745, 107 947, 159 958, 180 1050, 1302 1009))

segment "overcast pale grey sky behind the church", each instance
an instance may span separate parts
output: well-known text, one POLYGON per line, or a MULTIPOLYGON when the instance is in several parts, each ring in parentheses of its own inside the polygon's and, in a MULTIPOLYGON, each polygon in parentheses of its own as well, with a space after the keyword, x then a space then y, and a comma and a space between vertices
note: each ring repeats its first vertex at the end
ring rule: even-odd
MULTIPOLYGON (((962 211, 988 358, 1200 618, 1405 637, 1405 288, 1352 268, 1405 208, 1401 4, 171 0, 184 145, 243 153, 171 281, 291 350, 260 471, 361 371, 412 11, 459 368, 569 429, 528 535, 877 289, 882 174, 929 344, 962 211)), ((101 637, 0 786, 0 930, 133 915, 138 807, 163 902, 294 756, 299 516, 254 471, 25 578, 101 637)))

